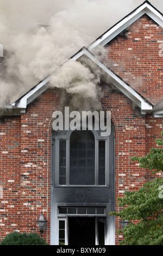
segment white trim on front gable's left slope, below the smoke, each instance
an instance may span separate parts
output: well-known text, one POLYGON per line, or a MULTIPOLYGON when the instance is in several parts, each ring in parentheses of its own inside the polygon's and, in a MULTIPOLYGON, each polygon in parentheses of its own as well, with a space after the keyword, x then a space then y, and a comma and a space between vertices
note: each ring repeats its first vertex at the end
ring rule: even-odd
POLYGON ((27 108, 27 105, 32 102, 34 99, 36 99, 37 96, 39 96, 41 93, 45 92, 45 90, 48 88, 47 83, 50 80, 50 76, 46 77, 45 80, 41 81, 37 86, 32 88, 27 94, 22 96, 20 99, 18 99, 16 102, 11 103, 13 107, 24 109, 27 108))

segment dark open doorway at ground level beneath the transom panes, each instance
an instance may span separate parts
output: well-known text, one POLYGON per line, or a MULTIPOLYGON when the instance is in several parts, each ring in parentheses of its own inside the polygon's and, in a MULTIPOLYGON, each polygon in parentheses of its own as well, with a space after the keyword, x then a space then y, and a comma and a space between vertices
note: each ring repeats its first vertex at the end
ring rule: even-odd
POLYGON ((95 245, 95 217, 68 217, 68 245, 95 245))

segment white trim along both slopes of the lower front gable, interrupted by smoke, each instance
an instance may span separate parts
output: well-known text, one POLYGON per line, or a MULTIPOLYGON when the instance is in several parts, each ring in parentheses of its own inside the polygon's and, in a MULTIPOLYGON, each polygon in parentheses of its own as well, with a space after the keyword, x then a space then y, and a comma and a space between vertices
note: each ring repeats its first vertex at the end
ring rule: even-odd
MULTIPOLYGON (((99 66, 99 68, 103 69, 106 72, 106 74, 108 74, 110 78, 110 83, 113 84, 116 88, 118 88, 137 106, 139 106, 141 108, 142 114, 146 114, 147 112, 152 110, 153 105, 151 102, 147 101, 142 95, 137 93, 136 90, 131 88, 129 84, 127 84, 120 76, 117 76, 114 71, 106 67, 103 63, 99 62, 99 60, 96 59, 95 55, 93 55, 86 47, 80 49, 76 54, 74 54, 74 56, 71 57, 71 59, 77 60, 84 55, 90 58, 99 66)), ((16 102, 12 103, 12 107, 20 108, 21 113, 26 112, 27 105, 49 88, 49 85, 47 83, 50 81, 50 79, 51 75, 46 77, 45 80, 42 80, 32 89, 30 89, 28 93, 24 94, 16 102)))

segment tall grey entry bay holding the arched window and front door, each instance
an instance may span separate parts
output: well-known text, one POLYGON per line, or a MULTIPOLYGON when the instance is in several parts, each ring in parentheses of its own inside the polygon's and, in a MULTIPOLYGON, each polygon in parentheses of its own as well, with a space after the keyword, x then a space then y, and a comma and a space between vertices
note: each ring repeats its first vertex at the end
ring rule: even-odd
POLYGON ((115 244, 114 125, 84 131, 52 131, 51 245, 115 244))

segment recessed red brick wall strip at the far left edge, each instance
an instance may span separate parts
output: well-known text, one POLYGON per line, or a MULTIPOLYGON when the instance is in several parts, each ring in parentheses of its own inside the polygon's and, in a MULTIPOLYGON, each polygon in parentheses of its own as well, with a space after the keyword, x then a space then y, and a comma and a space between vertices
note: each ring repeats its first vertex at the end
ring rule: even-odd
POLYGON ((20 117, 0 119, 0 239, 19 229, 20 130, 20 117))

